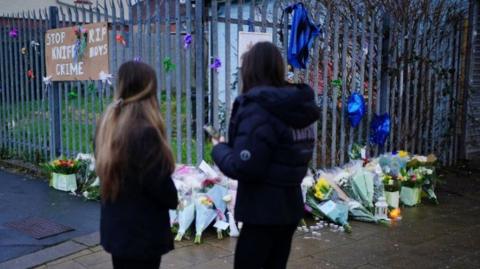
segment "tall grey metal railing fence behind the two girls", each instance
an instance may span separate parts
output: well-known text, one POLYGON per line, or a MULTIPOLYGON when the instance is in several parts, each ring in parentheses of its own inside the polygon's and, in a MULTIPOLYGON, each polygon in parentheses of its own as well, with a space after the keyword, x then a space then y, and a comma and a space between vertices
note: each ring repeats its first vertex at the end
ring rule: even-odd
MULTIPOLYGON (((445 164, 454 163, 461 135, 456 121, 463 113, 458 103, 465 91, 463 20, 412 28, 378 10, 348 13, 322 1, 303 2, 322 29, 307 69, 294 71, 295 81, 315 89, 322 111, 314 166, 345 163, 354 143, 369 143, 369 124, 380 113, 390 114, 392 128, 385 147, 370 146, 370 155, 404 149, 435 153, 445 164), (349 125, 345 111, 354 91, 364 95, 367 107, 357 128, 349 125)), ((210 121, 226 130, 239 93, 238 32, 270 32, 286 56, 291 17, 283 10, 291 3, 111 1, 103 8, 50 7, 0 18, 2 152, 33 162, 91 152, 96 119, 114 88, 100 81, 46 87, 44 34, 54 27, 107 21, 111 72, 134 58, 152 65, 177 161, 208 159, 210 144, 202 127, 210 121), (9 36, 13 28, 18 30, 15 38, 9 36), (187 34, 193 37, 190 46, 184 46, 187 34), (213 58, 222 61, 219 72, 209 68, 213 58), (165 61, 175 67, 165 68, 165 61)))

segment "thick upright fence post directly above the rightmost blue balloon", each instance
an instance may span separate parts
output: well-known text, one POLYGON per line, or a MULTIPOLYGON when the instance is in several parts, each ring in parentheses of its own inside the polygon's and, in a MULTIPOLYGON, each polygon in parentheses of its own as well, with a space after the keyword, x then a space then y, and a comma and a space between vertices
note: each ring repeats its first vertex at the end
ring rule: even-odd
POLYGON ((382 78, 380 84, 380 114, 388 111, 388 57, 390 52, 390 16, 384 15, 383 18, 383 36, 382 36, 382 78))

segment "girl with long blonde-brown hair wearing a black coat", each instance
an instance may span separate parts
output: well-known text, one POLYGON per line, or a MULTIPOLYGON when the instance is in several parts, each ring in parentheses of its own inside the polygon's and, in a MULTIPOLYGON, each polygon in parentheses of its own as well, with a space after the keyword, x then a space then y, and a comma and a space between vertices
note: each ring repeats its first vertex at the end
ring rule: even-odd
POLYGON ((168 210, 178 203, 175 164, 156 89, 150 66, 124 63, 115 101, 97 126, 100 237, 114 268, 159 268, 161 256, 173 249, 168 210))

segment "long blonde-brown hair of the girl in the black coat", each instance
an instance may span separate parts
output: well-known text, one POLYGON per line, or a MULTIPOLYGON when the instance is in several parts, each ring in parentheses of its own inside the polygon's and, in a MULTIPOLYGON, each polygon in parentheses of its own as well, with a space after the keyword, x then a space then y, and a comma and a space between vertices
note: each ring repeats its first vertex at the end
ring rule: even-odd
POLYGON ((132 164, 138 161, 129 160, 129 149, 145 128, 153 128, 158 134, 160 143, 149 148, 160 158, 161 167, 158 169, 165 175, 174 170, 174 158, 165 139, 165 124, 156 92, 155 71, 149 65, 129 61, 120 66, 115 99, 99 120, 95 137, 95 170, 101 180, 104 201, 117 198, 121 181, 132 164))

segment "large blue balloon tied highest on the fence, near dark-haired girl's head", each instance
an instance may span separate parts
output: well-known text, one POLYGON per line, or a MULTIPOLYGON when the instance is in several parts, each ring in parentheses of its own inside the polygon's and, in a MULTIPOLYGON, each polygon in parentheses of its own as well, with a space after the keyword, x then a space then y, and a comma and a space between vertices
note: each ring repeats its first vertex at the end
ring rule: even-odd
POLYGON ((288 44, 288 63, 294 68, 307 68, 308 50, 313 40, 320 34, 320 29, 308 17, 303 3, 290 5, 285 12, 294 11, 290 41, 288 44))

